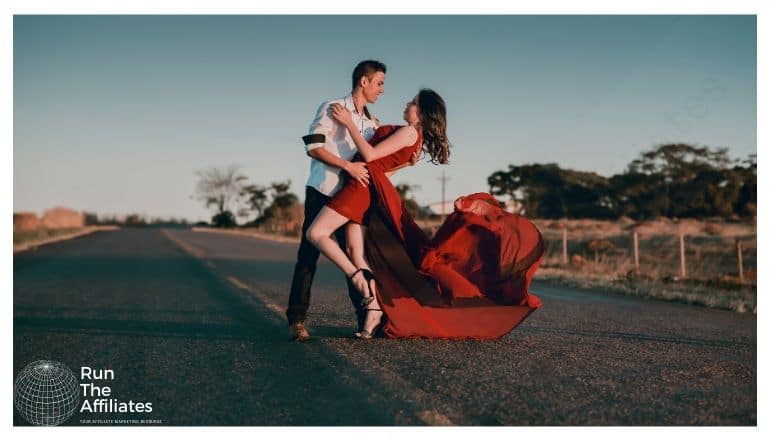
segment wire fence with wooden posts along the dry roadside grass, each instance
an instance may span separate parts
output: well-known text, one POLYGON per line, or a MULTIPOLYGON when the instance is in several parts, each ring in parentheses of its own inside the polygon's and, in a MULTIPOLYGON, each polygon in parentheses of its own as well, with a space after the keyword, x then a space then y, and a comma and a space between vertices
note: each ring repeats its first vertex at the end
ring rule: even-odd
MULTIPOLYGON (((757 234, 750 223, 533 220, 545 240, 542 268, 577 277, 641 277, 756 286, 757 234)), ((428 235, 441 220, 418 222, 428 235)))

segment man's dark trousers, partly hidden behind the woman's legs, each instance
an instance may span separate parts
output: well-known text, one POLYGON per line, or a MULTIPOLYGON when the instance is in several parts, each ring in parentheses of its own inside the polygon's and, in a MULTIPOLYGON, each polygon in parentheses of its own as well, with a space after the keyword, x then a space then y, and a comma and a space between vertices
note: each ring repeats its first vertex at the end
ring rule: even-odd
MULTIPOLYGON (((302 241, 299 243, 297 264, 294 266, 294 276, 289 292, 289 307, 286 309, 286 318, 289 320, 289 324, 304 321, 307 316, 307 309, 310 307, 310 285, 313 284, 316 264, 321 253, 308 241, 305 234, 321 209, 329 203, 329 200, 330 197, 321 194, 315 188, 305 187, 305 220, 302 223, 302 241)), ((344 227, 337 229, 334 232, 334 237, 343 250, 347 249, 344 227)), ((353 303, 358 318, 358 328, 361 329, 366 319, 366 312, 360 307, 361 294, 347 277, 345 280, 348 284, 348 296, 350 296, 350 301, 353 303)))

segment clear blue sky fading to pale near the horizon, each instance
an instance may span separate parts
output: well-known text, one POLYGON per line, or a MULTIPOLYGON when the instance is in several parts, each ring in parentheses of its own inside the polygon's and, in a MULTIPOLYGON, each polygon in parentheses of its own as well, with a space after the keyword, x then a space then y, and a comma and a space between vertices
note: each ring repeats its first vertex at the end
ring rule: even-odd
POLYGON ((399 123, 420 87, 448 107, 449 165, 394 176, 421 204, 486 191, 509 164, 622 172, 663 142, 756 148, 754 16, 16 16, 14 211, 208 220, 195 171, 291 179, 318 105, 362 59, 399 123))

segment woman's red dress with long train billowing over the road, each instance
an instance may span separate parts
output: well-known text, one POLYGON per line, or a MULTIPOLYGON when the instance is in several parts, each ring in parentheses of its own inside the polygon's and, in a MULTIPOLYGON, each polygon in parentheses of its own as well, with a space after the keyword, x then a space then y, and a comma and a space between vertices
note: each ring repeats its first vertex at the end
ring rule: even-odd
MULTIPOLYGON (((380 130, 372 143, 395 128, 380 130)), ((421 142, 388 158, 398 155, 398 164, 405 163, 421 142)), ((455 211, 428 239, 384 174, 397 165, 383 159, 368 164, 368 188, 348 183, 330 205, 356 214, 368 209, 364 246, 387 318, 385 335, 495 339, 542 306, 529 292, 545 250, 532 222, 506 212, 491 195, 476 193, 458 198, 455 211), (361 200, 364 206, 353 206, 361 200)))

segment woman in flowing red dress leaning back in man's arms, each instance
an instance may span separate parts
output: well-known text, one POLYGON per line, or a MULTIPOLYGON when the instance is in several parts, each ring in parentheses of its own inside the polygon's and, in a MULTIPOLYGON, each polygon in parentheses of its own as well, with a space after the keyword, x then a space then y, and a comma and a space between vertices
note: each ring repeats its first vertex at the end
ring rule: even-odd
POLYGON ((498 338, 541 306, 528 292, 544 250, 531 222, 472 194, 430 240, 386 176, 421 148, 434 164, 447 163, 446 106, 436 92, 420 90, 404 111, 408 125, 380 127, 371 144, 348 110, 336 106, 332 115, 367 162, 370 183, 348 180, 307 236, 361 292, 367 317, 356 337, 371 338, 386 316, 389 337, 498 338), (345 224, 349 255, 331 238, 345 224))

